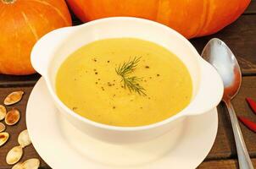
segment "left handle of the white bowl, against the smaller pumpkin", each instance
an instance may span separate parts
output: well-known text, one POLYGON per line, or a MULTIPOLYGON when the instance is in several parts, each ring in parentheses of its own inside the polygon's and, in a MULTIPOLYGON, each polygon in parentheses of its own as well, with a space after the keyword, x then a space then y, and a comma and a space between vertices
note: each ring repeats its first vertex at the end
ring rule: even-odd
POLYGON ((60 28, 53 30, 36 42, 31 51, 31 63, 36 72, 45 76, 47 74, 48 64, 54 56, 54 52, 62 41, 66 39, 74 29, 73 27, 60 28))

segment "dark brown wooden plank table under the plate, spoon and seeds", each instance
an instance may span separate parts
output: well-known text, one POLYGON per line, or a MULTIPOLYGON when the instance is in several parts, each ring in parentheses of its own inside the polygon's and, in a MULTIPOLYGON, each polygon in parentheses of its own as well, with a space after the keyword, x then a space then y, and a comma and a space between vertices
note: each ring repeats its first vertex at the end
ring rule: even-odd
MULTIPOLYGON (((74 24, 80 22, 74 19, 74 24)), ((237 97, 232 101, 234 103, 237 114, 250 117, 256 122, 256 116, 248 107, 245 97, 249 96, 256 100, 256 0, 253 0, 244 14, 232 25, 227 26, 215 35, 209 35, 202 38, 192 39, 191 42, 198 52, 202 52, 203 46, 213 37, 218 37, 225 41, 238 58, 242 68, 242 88, 237 97)), ((11 168, 5 162, 5 156, 12 147, 17 145, 17 137, 20 131, 26 128, 25 126, 25 107, 29 95, 36 81, 40 78, 39 74, 30 76, 8 76, 0 75, 0 101, 13 90, 24 90, 25 95, 22 101, 15 106, 21 111, 21 118, 17 125, 8 127, 7 132, 11 135, 7 144, 0 148, 0 169, 11 168)), ((0 103, 2 104, 2 103, 0 103)), ((8 106, 8 109, 12 106, 8 106)), ((225 106, 221 103, 218 106, 219 112, 219 129, 217 138, 214 142, 209 155, 198 166, 199 169, 234 169, 237 166, 237 152, 234 137, 231 130, 231 122, 226 112, 225 106)), ((38 119, 39 120, 39 119, 38 119)), ((47 125, 47 124, 46 124, 47 125)), ((253 160, 253 165, 256 168, 256 134, 241 125, 242 134, 248 147, 249 154, 253 160)), ((195 152, 197 153, 197 152, 195 152)), ((28 158, 36 157, 41 160, 42 168, 50 168, 42 161, 36 153, 33 146, 25 148, 25 154, 21 161, 28 158)), ((58 157, 56 157, 58 158, 58 157)))

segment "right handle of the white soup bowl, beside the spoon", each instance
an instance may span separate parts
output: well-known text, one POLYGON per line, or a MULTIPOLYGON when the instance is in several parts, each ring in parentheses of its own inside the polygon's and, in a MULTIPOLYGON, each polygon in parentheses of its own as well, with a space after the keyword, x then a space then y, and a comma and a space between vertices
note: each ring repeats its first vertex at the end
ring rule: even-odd
POLYGON ((201 77, 198 93, 195 95, 191 104, 187 106, 186 115, 199 115, 209 112, 220 103, 224 85, 217 70, 209 63, 200 59, 201 77))

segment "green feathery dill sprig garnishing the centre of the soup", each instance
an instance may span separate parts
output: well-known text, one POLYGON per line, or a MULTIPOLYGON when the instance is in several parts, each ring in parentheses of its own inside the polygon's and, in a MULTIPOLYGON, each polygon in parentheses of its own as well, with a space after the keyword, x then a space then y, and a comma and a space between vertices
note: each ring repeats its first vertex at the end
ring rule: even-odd
POLYGON ((145 89, 139 84, 142 78, 130 76, 140 62, 140 59, 141 57, 134 57, 132 60, 129 59, 128 62, 124 62, 118 68, 115 68, 115 72, 122 77, 121 82, 124 82, 124 87, 127 87, 130 92, 133 91, 139 95, 146 95, 145 89))

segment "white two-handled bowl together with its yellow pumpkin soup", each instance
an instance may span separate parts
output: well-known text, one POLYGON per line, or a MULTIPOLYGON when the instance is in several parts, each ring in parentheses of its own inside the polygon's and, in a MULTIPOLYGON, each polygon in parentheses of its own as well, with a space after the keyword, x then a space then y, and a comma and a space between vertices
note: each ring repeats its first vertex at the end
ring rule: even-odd
POLYGON ((131 17, 53 30, 31 52, 60 113, 97 139, 153 139, 223 95, 216 70, 167 26, 131 17))

